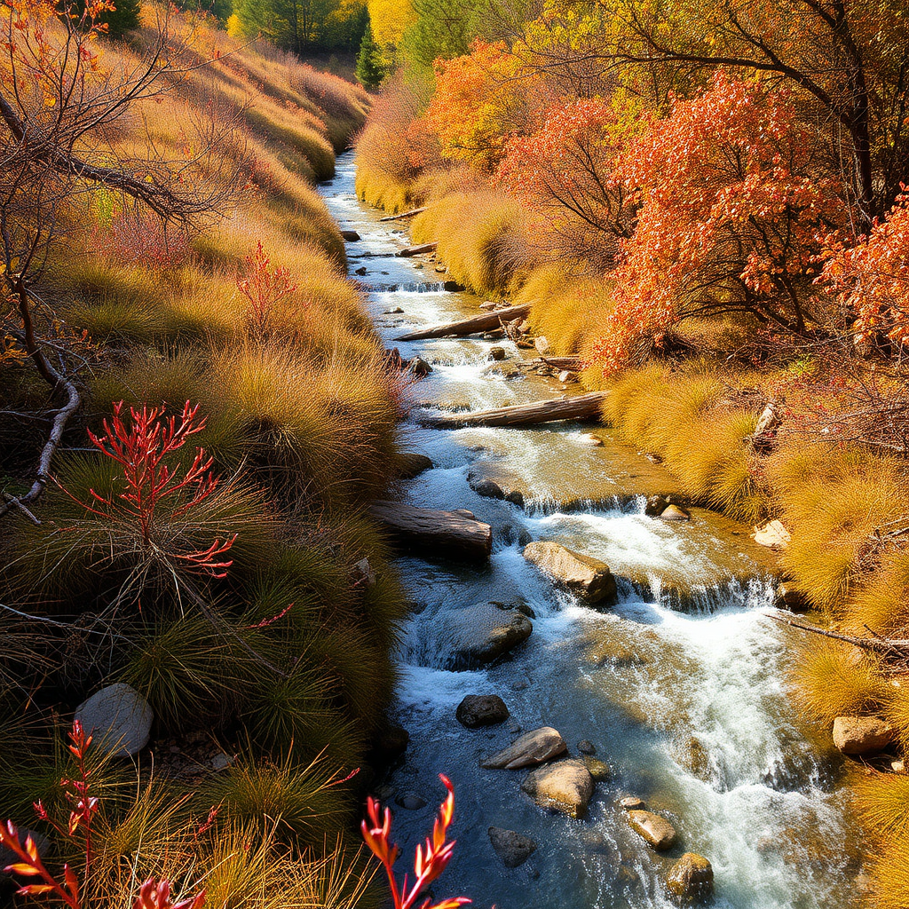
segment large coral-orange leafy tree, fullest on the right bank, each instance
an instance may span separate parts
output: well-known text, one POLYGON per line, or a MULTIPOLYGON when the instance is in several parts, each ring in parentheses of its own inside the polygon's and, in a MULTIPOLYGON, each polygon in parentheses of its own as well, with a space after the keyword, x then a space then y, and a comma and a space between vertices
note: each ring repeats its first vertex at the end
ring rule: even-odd
POLYGON ((607 371, 682 318, 742 312, 804 333, 823 236, 844 218, 834 177, 785 90, 722 72, 632 142, 615 177, 638 194, 594 358, 607 371))

